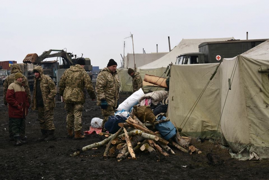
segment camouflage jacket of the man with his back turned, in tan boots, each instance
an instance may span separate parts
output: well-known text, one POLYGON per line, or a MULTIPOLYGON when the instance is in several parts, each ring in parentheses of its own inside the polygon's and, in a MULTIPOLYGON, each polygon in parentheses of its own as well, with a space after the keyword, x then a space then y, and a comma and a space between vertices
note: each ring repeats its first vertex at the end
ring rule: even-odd
POLYGON ((93 83, 89 74, 76 64, 65 70, 59 83, 60 95, 63 96, 65 103, 84 104, 84 88, 87 89, 90 97, 95 99, 93 83))

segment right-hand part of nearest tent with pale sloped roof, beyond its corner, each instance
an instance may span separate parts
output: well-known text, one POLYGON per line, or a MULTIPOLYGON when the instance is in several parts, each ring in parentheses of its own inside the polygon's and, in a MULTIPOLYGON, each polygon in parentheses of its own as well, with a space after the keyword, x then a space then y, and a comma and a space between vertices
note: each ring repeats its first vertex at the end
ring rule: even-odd
POLYGON ((259 158, 269 158, 268 68, 269 40, 235 58, 223 60, 221 130, 236 153, 245 148, 245 154, 254 152, 259 158), (228 78, 231 79, 229 91, 228 78))

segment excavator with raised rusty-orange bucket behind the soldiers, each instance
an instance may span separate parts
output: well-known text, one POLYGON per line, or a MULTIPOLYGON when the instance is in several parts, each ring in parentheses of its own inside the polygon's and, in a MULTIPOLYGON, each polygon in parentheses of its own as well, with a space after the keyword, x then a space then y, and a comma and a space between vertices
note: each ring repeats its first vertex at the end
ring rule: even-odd
MULTIPOLYGON (((82 56, 80 58, 82 58, 82 56)), ((55 85, 57 86, 61 76, 63 75, 63 72, 66 69, 70 68, 70 66, 75 65, 77 63, 77 60, 80 58, 77 58, 76 55, 73 55, 72 53, 67 53, 64 50, 50 49, 48 51, 44 51, 40 56, 38 56, 36 53, 27 54, 26 57, 23 59, 23 63, 33 63, 34 65, 41 66, 43 68, 44 74, 50 76, 53 79, 55 85), (58 57, 61 57, 60 63, 57 60, 58 57), (57 59, 54 61, 44 61, 44 59, 46 58, 57 58, 57 59)), ((91 60, 89 58, 83 58, 83 59, 85 60, 86 64, 84 69, 89 73, 89 71, 92 70, 91 60)), ((34 83, 33 72, 28 71, 27 79, 29 82, 30 89, 33 89, 33 83, 34 83)))

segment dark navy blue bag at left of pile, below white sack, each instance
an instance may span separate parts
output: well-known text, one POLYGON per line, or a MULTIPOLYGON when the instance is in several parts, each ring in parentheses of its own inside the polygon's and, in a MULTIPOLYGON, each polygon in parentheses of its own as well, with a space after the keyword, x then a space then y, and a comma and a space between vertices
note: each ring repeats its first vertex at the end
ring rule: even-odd
POLYGON ((125 123, 127 118, 123 116, 109 116, 108 121, 104 123, 104 128, 108 130, 109 133, 115 134, 120 129, 118 123, 125 123))

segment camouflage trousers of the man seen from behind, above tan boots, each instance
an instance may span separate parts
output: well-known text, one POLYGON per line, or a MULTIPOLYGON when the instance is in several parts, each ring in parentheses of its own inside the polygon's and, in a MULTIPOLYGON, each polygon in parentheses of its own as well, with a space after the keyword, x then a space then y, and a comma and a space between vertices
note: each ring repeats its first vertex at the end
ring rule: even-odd
POLYGON ((81 118, 83 104, 65 103, 64 109, 67 110, 66 127, 74 131, 80 131, 82 128, 81 118))

